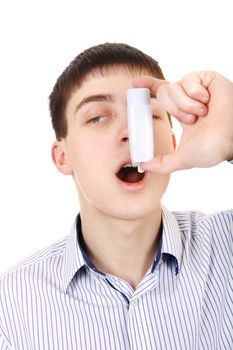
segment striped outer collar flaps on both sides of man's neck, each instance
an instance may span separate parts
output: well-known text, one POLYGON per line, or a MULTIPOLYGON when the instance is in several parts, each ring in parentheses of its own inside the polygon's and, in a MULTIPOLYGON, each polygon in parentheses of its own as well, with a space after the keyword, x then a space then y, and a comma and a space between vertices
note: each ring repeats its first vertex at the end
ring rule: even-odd
MULTIPOLYGON (((161 253, 159 252, 159 258, 161 255, 163 257, 171 257, 176 262, 176 273, 178 273, 182 254, 181 233, 178 222, 175 216, 164 206, 162 207, 162 220, 162 246, 161 253)), ((63 287, 65 291, 67 291, 67 288, 75 274, 83 266, 88 265, 78 241, 78 234, 80 232, 81 219, 80 215, 78 215, 71 229, 70 235, 67 238, 64 252, 63 287)), ((156 259, 157 258, 158 256, 156 259)))

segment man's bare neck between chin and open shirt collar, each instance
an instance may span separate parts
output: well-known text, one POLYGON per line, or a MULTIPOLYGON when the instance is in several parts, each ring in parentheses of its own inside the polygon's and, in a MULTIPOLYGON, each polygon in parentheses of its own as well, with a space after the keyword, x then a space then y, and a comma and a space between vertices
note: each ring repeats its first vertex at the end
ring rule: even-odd
POLYGON ((97 269, 136 288, 159 244, 161 208, 143 219, 109 218, 81 210, 84 249, 97 269))

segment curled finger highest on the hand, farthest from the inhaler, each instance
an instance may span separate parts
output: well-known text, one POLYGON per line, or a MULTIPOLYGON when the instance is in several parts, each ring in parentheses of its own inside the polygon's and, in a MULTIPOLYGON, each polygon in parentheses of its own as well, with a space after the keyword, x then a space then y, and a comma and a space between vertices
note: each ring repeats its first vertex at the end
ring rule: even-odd
POLYGON ((204 73, 188 74, 181 80, 181 85, 188 96, 206 104, 209 102, 210 95, 208 90, 204 87, 203 74, 204 73))

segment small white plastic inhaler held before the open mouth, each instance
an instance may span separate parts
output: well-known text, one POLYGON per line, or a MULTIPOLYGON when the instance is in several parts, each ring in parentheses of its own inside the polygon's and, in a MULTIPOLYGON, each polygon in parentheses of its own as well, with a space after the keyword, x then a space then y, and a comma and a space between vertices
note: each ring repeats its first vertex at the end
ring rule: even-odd
POLYGON ((153 116, 150 106, 150 90, 133 88, 127 90, 127 117, 129 149, 133 166, 151 160, 154 155, 153 116))

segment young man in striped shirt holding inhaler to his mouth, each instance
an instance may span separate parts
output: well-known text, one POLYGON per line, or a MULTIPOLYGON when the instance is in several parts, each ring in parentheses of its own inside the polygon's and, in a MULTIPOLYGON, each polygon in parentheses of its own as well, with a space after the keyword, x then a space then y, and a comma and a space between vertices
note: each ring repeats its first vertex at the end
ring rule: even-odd
POLYGON ((50 96, 58 170, 72 175, 71 234, 0 280, 0 349, 231 349, 233 212, 170 213, 170 172, 233 159, 233 84, 163 80, 123 44, 83 52, 50 96), (130 166, 126 90, 151 89, 155 158, 130 166), (167 111, 186 123, 179 148, 167 111))

